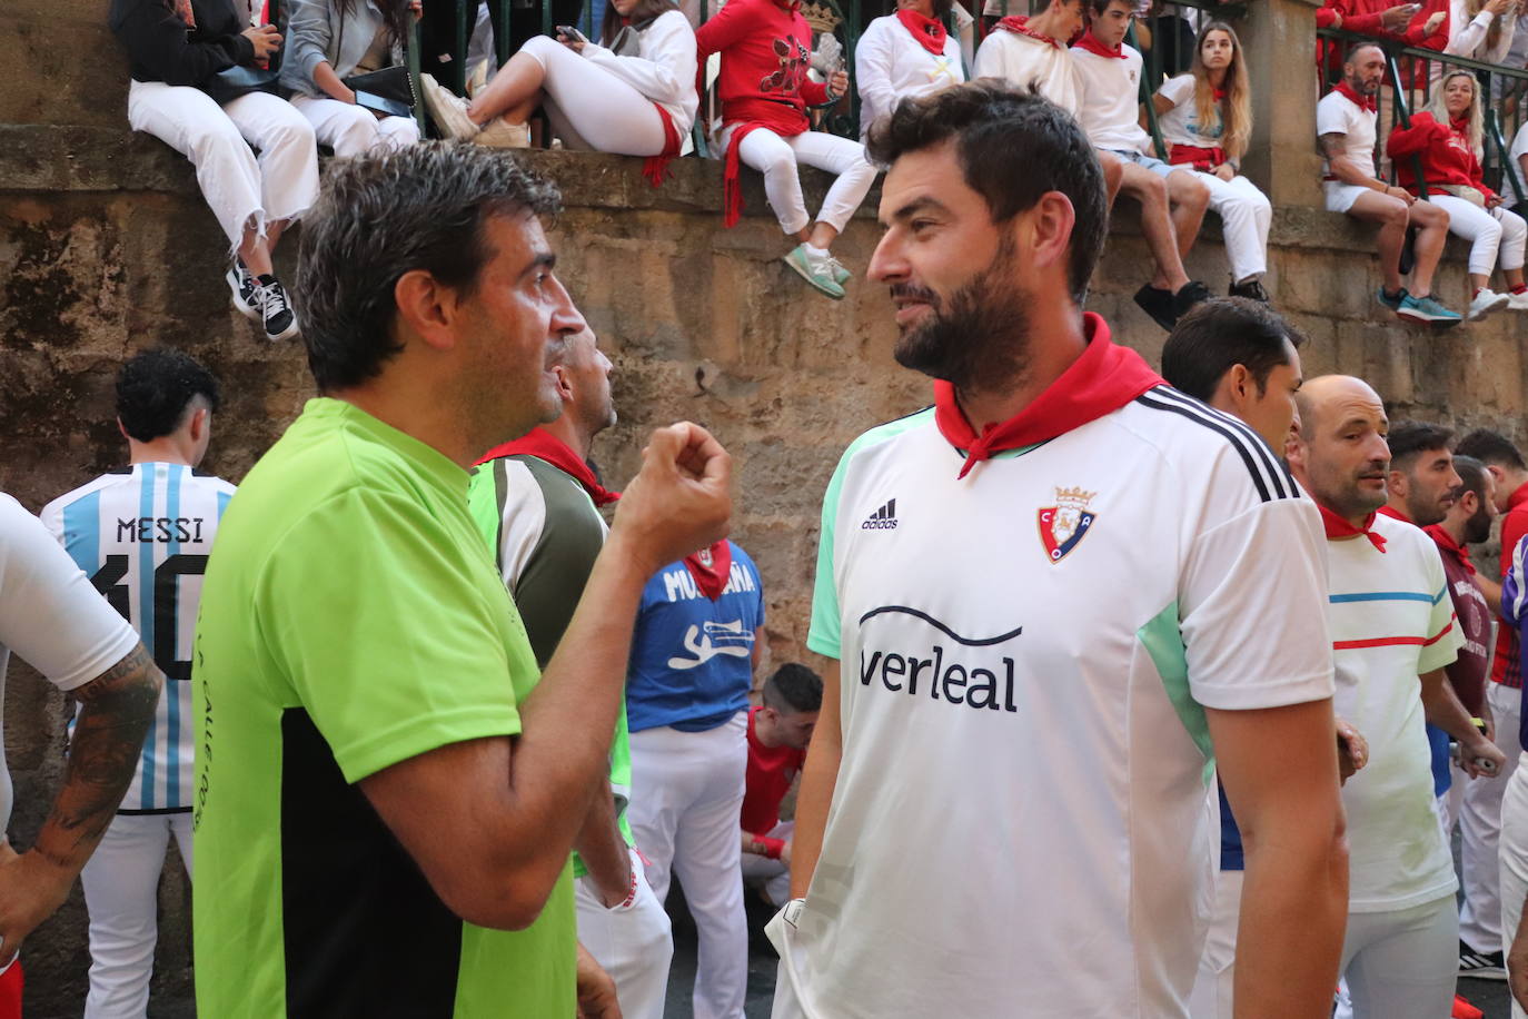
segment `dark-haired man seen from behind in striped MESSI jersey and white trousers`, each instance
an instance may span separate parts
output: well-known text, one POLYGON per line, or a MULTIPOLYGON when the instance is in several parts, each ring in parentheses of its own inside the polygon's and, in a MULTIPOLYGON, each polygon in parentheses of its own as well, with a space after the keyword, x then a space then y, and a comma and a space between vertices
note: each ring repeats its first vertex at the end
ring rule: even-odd
POLYGON ((133 784, 81 874, 90 914, 87 1019, 144 1016, 159 872, 171 836, 191 872, 191 640, 212 536, 234 497, 232 484, 196 471, 217 403, 217 379, 189 354, 139 353, 116 379, 127 466, 58 497, 41 513, 168 680, 133 784))

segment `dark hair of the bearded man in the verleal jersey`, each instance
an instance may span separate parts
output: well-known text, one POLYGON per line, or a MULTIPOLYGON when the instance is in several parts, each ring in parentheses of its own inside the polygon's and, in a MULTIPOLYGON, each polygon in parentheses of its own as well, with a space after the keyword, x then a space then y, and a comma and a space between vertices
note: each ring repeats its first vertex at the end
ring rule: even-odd
POLYGON ((1082 304, 1109 229, 1103 170, 1088 136, 1065 110, 1041 95, 981 78, 931 96, 906 98, 871 127, 871 162, 891 167, 908 153, 955 142, 966 186, 987 202, 993 223, 1034 208, 1047 191, 1071 200, 1067 281, 1082 304), (1022 168, 1015 167, 1022 159, 1022 168))

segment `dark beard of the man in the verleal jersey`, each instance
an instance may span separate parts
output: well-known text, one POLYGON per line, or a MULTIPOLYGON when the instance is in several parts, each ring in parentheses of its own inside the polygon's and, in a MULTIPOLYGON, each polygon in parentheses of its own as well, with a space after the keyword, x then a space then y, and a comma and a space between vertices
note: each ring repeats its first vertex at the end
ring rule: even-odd
POLYGON ((1013 238, 1004 232, 992 263, 947 301, 923 287, 895 284, 894 296, 914 296, 929 306, 923 321, 897 338, 897 364, 961 391, 993 388, 1022 374, 1033 316, 1028 293, 1013 281, 1013 238))

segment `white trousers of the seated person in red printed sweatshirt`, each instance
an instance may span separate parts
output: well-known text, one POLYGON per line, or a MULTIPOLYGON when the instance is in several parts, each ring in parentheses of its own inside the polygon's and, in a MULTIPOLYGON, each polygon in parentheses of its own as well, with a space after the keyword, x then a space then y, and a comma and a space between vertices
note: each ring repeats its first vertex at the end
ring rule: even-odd
MULTIPOLYGON (((736 127, 729 124, 723 128, 717 139, 721 151, 727 151, 736 127)), ((811 222, 807 215, 807 200, 801 194, 798 163, 825 170, 837 177, 822 199, 817 220, 840 232, 859 203, 865 200, 869 186, 876 183, 876 167, 865 156, 865 147, 825 131, 802 131, 793 137, 781 137, 761 127, 743 139, 738 157, 764 174, 764 196, 775 209, 779 228, 787 234, 799 234, 811 222)))

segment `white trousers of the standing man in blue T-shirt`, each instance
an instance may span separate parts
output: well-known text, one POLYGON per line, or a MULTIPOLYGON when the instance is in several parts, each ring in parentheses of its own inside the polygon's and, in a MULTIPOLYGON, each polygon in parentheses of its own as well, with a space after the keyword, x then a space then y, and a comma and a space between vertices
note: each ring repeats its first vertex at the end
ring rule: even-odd
POLYGON ((631 733, 631 805, 626 819, 648 856, 648 882, 668 898, 669 874, 685 885, 695 918, 695 1019, 741 1019, 749 979, 743 912, 743 782, 749 761, 747 712, 706 732, 643 729, 631 733))

